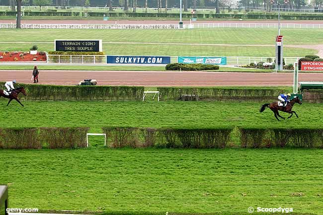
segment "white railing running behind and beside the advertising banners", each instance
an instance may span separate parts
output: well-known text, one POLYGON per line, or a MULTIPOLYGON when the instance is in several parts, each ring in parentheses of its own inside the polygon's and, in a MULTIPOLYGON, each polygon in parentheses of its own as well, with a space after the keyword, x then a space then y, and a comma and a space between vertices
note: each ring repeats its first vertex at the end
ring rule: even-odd
MULTIPOLYGON (((124 56, 124 55, 123 55, 124 56)), ((227 57, 227 65, 247 65, 250 63, 267 62, 275 57, 227 57)), ((285 57, 285 64, 294 64, 300 57, 285 57)), ((171 63, 177 63, 177 56, 170 56, 171 63)), ((50 64, 106 64, 104 55, 47 55, 47 63, 50 64)))

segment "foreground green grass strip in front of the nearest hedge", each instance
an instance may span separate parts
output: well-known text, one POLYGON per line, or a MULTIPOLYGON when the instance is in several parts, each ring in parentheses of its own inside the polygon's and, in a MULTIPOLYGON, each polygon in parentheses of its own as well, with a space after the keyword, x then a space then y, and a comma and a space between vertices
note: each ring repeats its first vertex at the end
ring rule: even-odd
POLYGON ((320 149, 0 150, 0 184, 10 208, 322 215, 322 165, 320 149))

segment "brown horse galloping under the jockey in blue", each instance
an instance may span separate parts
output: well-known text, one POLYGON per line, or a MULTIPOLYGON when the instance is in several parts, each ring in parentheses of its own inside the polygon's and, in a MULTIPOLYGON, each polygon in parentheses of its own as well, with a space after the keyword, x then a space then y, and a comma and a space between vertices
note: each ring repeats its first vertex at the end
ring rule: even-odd
POLYGON ((278 106, 278 103, 277 102, 272 102, 272 103, 267 103, 267 104, 264 104, 261 106, 259 112, 262 113, 266 107, 269 107, 270 110, 272 112, 274 112, 274 115, 276 117, 276 119, 279 121, 278 117, 279 116, 280 118, 282 119, 285 119, 284 117, 280 116, 279 115, 279 111, 283 111, 283 112, 286 112, 286 113, 290 113, 291 115, 289 117, 287 117, 287 119, 291 118, 293 116, 293 113, 296 115, 296 117, 298 118, 297 116, 297 113, 295 111, 292 111, 292 108, 294 106, 295 103, 299 103, 299 104, 302 104, 302 101, 298 98, 298 96, 294 96, 294 98, 286 105, 286 107, 283 107, 283 106, 278 106))

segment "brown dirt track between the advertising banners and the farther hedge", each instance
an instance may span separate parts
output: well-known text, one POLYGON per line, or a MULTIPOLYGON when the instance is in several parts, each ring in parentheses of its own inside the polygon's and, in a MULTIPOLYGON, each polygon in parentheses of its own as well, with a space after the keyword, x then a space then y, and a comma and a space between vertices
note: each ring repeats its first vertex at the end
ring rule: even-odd
MULTIPOLYGON (((31 83, 32 71, 0 71, 0 81, 31 83)), ((293 73, 40 71, 41 84, 76 84, 96 79, 99 85, 135 86, 292 86, 293 73)), ((323 73, 300 73, 299 81, 323 81, 323 73)))

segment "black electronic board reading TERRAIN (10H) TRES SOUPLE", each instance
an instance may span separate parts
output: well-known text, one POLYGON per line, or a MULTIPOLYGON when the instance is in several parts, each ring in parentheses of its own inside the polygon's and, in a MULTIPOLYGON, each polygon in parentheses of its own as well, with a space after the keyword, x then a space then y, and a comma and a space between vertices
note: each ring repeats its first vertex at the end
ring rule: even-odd
POLYGON ((55 51, 102 52, 102 40, 55 40, 55 51))

